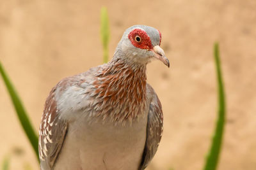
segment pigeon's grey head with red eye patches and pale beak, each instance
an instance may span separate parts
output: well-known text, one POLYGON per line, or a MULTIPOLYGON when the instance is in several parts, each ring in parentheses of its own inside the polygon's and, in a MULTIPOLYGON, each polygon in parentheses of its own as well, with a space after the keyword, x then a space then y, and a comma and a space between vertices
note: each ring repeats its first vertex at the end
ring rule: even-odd
POLYGON ((131 64, 147 64, 153 59, 161 60, 170 67, 161 45, 161 32, 146 25, 133 25, 123 34, 116 48, 115 57, 131 64))

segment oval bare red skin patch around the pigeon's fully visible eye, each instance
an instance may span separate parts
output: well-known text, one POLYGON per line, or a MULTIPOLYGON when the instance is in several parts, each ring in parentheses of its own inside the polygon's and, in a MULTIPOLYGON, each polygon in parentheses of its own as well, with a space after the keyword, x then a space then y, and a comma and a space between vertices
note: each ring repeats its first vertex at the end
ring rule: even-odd
POLYGON ((128 38, 130 39, 132 45, 136 46, 137 48, 141 48, 143 50, 149 50, 149 49, 153 48, 151 40, 148 37, 147 32, 145 32, 141 29, 132 30, 129 33, 128 38), (140 38, 141 38, 140 42, 135 41, 136 36, 140 36, 140 38))

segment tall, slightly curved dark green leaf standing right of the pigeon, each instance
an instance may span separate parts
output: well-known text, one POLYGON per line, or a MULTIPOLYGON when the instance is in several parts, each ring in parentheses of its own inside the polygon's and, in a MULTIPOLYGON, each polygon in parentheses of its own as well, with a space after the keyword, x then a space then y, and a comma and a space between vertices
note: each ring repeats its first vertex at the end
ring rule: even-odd
POLYGON ((225 92, 221 74, 221 63, 218 43, 214 44, 214 59, 216 64, 217 81, 218 81, 218 120, 216 129, 212 138, 211 149, 209 150, 204 170, 214 170, 218 166, 218 160, 221 152, 221 143, 225 126, 225 92))

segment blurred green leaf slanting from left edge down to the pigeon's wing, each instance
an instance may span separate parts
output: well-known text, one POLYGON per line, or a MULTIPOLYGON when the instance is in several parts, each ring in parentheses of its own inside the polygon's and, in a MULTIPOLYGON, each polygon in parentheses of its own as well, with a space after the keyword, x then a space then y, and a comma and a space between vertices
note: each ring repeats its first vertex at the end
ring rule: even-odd
POLYGON ((31 125, 31 122, 28 118, 28 114, 24 110, 24 107, 22 105, 22 102, 19 99, 17 92, 15 91, 10 79, 8 78, 6 72, 4 71, 4 68, 3 68, 1 62, 0 62, 0 74, 3 77, 6 88, 10 94, 10 97, 12 99, 12 103, 16 110, 20 124, 22 125, 22 128, 24 129, 24 131, 29 139, 29 142, 31 143, 31 145, 36 153, 37 159, 39 160, 39 158, 38 158, 38 137, 31 125))

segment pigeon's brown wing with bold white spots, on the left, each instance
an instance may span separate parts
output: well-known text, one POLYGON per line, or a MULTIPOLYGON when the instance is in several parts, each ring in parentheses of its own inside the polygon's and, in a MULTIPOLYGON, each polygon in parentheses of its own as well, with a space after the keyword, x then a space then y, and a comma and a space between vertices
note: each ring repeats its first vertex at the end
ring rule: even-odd
POLYGON ((42 122, 39 129, 39 157, 42 170, 52 169, 60 153, 67 133, 68 124, 59 119, 60 113, 56 106, 56 87, 54 87, 45 102, 42 122))

